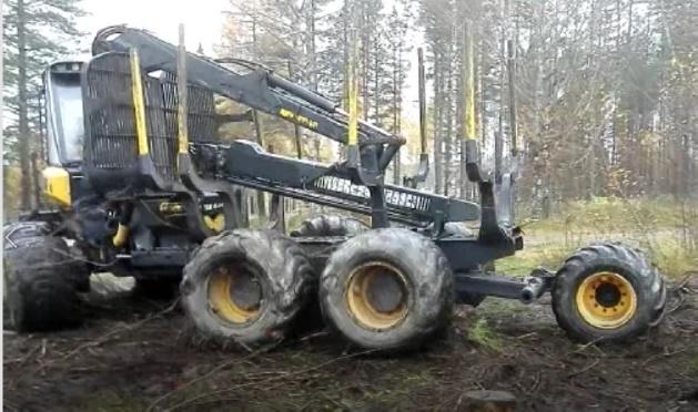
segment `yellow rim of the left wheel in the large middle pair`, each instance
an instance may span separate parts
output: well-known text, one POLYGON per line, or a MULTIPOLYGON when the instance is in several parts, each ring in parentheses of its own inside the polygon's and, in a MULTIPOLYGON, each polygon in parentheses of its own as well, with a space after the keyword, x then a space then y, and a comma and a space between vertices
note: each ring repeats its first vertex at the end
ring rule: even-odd
POLYGON ((260 315, 262 287, 243 267, 220 267, 209 278, 209 307, 220 319, 244 325, 260 315))

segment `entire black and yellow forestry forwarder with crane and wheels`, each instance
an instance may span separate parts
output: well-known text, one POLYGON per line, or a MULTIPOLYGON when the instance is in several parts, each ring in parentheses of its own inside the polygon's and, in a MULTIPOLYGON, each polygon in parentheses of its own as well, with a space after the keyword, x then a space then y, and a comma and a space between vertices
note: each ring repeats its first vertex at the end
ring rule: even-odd
MULTIPOLYGON (((404 141, 357 121, 356 104, 347 114, 263 66, 229 61, 241 74, 182 44, 111 27, 89 62, 47 70, 43 176, 58 208, 4 229, 13 328, 77 325, 79 292, 97 270, 150 287, 180 282, 203 336, 245 346, 283 338, 314 297, 334 330, 375 349, 417 346, 447 325, 454 303, 487 296, 530 302, 550 291, 559 326, 580 341, 627 340, 661 319, 664 278, 626 246, 584 247, 556 272, 525 279, 483 270, 520 249, 523 237, 513 178, 480 173, 475 140, 465 145, 466 171, 479 205, 387 185, 404 141), (214 143, 214 95, 344 144, 347 161, 214 143), (370 215, 372 227, 321 216, 294 237, 245 229, 241 187, 370 215), (477 219, 476 235, 459 224, 477 219)), ((424 178, 421 169, 412 182, 424 178)))

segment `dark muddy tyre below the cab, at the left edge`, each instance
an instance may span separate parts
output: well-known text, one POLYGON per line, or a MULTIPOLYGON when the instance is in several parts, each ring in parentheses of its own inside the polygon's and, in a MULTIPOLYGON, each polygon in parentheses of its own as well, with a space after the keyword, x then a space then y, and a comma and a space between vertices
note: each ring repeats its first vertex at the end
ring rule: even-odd
POLYGON ((67 250, 63 239, 52 236, 13 237, 6 244, 3 321, 8 328, 33 332, 81 323, 75 285, 81 274, 75 270, 82 269, 67 250))

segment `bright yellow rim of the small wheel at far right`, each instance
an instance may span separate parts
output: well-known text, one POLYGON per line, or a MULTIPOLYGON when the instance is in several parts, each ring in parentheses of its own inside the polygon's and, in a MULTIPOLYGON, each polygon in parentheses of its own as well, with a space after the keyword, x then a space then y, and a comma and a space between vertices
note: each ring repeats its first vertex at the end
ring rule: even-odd
POLYGON ((627 323, 637 310, 633 285, 611 271, 594 274, 577 289, 577 310, 590 326, 616 329, 627 323))

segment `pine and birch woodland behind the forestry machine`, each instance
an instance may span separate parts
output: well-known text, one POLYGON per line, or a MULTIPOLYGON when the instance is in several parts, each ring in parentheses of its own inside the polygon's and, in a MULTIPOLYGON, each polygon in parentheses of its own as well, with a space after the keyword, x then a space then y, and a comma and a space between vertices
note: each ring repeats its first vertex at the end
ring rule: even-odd
MULTIPOLYGON (((87 34, 75 28, 83 16, 80 1, 3 6, 7 219, 34 206, 30 165, 33 154, 42 162, 41 72, 48 62, 74 53, 68 44, 87 34)), ((516 132, 520 219, 569 215, 575 202, 621 199, 620 209, 631 207, 629 202, 641 207, 659 202, 670 207, 648 210, 677 215, 682 243, 689 250, 696 246, 694 1, 231 0, 221 11, 225 23, 216 58, 257 61, 337 102, 346 97, 351 39, 357 33, 361 114, 408 141, 387 176, 394 182, 416 168, 418 113, 411 73, 416 49, 423 48, 433 166, 424 188, 468 199, 477 194, 461 175, 461 140, 464 62, 472 42, 477 138, 485 165, 507 171, 516 132)), ((220 109, 242 110, 225 101, 220 109)), ((257 140, 275 153, 297 155, 291 124, 260 120, 259 134, 251 123, 231 123, 220 128, 219 138, 257 140)), ((304 157, 332 162, 341 155, 328 141, 302 133, 304 157)))

